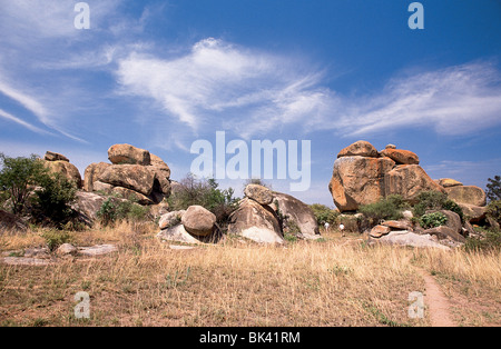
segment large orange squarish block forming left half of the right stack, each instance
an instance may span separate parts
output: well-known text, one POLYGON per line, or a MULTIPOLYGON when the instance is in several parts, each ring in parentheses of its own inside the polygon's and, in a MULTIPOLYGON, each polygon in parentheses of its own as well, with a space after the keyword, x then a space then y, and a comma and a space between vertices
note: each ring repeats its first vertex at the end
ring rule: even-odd
POLYGON ((385 196, 384 177, 395 162, 390 158, 341 157, 334 162, 328 189, 340 211, 354 211, 361 205, 385 196))

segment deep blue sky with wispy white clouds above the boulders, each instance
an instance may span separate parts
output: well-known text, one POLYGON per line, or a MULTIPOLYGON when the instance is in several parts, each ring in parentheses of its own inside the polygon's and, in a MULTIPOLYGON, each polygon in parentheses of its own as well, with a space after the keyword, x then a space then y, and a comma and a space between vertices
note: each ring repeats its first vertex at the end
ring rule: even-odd
MULTIPOLYGON (((333 206, 337 152, 357 140, 416 152, 434 178, 501 173, 501 1, 0 0, 0 151, 68 156, 84 173, 115 143, 189 172, 194 141, 311 140, 333 206)), ((271 181, 288 191, 288 182, 271 181)), ((243 181, 222 181, 242 190, 243 181)))

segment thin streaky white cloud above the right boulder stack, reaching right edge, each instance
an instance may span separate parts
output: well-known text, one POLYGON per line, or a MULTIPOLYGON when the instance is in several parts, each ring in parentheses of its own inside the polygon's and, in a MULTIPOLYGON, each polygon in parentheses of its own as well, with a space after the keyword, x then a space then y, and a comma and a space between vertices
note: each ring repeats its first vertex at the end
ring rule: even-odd
POLYGON ((501 73, 468 63, 395 78, 381 93, 346 103, 338 127, 353 136, 403 127, 465 134, 501 124, 501 73))

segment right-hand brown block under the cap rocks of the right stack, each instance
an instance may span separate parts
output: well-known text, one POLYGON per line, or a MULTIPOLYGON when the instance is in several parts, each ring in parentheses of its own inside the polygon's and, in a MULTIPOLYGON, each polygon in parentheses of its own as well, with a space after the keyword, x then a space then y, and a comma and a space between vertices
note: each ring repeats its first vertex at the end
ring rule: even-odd
POLYGON ((440 191, 444 189, 433 181, 419 164, 397 166, 384 177, 386 196, 400 195, 409 202, 415 202, 422 191, 440 191))

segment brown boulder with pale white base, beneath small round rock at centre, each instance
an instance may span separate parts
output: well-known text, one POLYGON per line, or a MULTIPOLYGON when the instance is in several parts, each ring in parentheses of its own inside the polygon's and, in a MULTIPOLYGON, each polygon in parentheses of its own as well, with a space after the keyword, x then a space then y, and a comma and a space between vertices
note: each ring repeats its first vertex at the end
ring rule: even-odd
POLYGON ((259 243, 284 243, 278 217, 269 208, 252 199, 242 200, 233 212, 228 232, 259 243))

